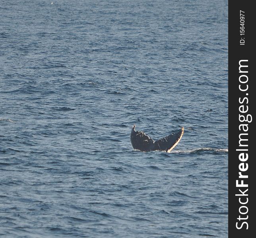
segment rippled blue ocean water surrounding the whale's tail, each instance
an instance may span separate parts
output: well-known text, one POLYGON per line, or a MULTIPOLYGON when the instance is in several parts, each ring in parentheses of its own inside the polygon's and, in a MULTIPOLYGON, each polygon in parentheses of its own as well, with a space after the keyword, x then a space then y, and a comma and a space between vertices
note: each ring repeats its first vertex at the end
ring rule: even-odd
POLYGON ((227 237, 227 10, 0 2, 1 238, 227 237))

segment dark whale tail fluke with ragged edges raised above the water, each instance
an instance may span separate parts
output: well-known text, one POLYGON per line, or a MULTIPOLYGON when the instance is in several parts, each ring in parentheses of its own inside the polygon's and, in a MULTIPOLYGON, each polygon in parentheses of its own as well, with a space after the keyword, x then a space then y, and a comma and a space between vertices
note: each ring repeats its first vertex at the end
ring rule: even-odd
POLYGON ((171 152, 178 144, 184 134, 184 127, 180 128, 177 133, 170 134, 159 140, 153 140, 142 131, 135 131, 135 125, 132 127, 131 143, 135 150, 149 152, 153 150, 171 152))

